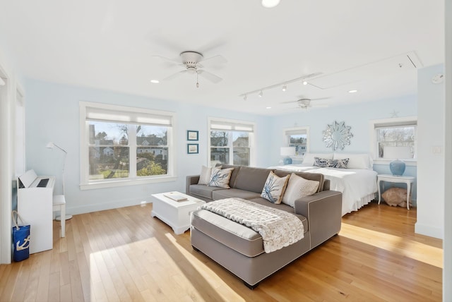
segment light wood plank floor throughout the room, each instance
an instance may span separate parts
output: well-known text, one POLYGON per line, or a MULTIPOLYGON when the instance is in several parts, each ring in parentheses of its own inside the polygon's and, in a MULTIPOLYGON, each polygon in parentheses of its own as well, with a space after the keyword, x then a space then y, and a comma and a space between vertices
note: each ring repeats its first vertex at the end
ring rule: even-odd
POLYGON ((0 301, 441 301, 442 243, 416 210, 371 203, 338 236, 251 291, 152 204, 75 215, 54 248, 0 265, 0 301))

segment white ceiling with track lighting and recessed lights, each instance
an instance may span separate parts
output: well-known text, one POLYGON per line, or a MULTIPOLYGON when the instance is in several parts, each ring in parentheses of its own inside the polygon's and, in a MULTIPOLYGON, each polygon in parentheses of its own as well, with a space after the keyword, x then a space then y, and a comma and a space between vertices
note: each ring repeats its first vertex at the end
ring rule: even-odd
MULTIPOLYGON (((444 0, 0 0, 0 45, 26 77, 285 114, 299 97, 330 107, 416 93, 416 68, 444 62, 444 0), (154 56, 221 54, 218 84, 154 56), (402 64, 400 68, 399 64, 402 64), (302 81, 239 95, 311 73, 302 81), (357 89, 357 93, 347 91, 357 89), (266 107, 272 107, 266 109, 266 107)), ((206 62, 207 63, 207 62, 206 62)), ((301 110, 301 109, 297 109, 301 110)))

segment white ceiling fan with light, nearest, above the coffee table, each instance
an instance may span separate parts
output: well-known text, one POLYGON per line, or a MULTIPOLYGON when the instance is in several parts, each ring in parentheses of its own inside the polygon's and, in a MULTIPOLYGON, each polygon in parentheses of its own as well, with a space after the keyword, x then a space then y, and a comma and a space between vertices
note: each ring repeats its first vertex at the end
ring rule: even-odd
POLYGON ((196 74, 196 87, 199 87, 198 75, 201 75, 201 77, 206 78, 207 80, 210 80, 210 82, 215 84, 219 83, 222 80, 222 78, 220 78, 218 75, 206 71, 204 69, 204 66, 221 66, 223 64, 226 64, 227 61, 223 56, 217 55, 212 56, 208 59, 204 59, 203 54, 201 54, 200 52, 191 51, 181 52, 179 56, 181 58, 181 61, 174 61, 172 59, 165 58, 165 56, 157 56, 160 59, 168 61, 172 64, 184 67, 184 70, 173 73, 163 80, 172 80, 173 78, 176 78, 177 76, 182 74, 196 74), (201 62, 203 62, 203 65, 201 65, 201 62))

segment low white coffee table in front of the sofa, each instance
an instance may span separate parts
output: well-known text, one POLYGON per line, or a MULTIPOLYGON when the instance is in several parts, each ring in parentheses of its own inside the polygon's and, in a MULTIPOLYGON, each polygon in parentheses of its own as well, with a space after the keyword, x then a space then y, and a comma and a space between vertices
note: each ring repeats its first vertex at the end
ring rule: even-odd
POLYGON ((152 197, 153 210, 150 215, 168 224, 177 235, 184 234, 184 231, 190 229, 191 212, 206 203, 177 191, 153 194, 152 197), (176 201, 167 198, 165 195, 178 195, 186 198, 186 200, 176 201))

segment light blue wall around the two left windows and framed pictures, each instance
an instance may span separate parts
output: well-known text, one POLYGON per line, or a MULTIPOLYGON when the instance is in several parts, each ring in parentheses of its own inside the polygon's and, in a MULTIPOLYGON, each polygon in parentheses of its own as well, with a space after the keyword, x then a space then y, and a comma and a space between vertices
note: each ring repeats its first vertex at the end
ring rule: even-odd
POLYGON ((194 106, 179 102, 149 99, 117 92, 73 87, 38 80, 26 80, 26 167, 38 175, 57 176, 55 191, 61 192, 63 152, 47 149, 50 141, 68 151, 66 160, 67 212, 78 214, 113 207, 136 205, 150 200, 150 194, 165 191, 185 191, 185 176, 199 174, 207 164, 207 119, 209 116, 256 122, 256 166, 268 165, 268 136, 270 118, 194 106), (80 183, 80 126, 79 101, 119 104, 176 112, 177 181, 139 186, 121 186, 81 191, 80 183), (199 154, 186 154, 186 131, 199 131, 199 154))

